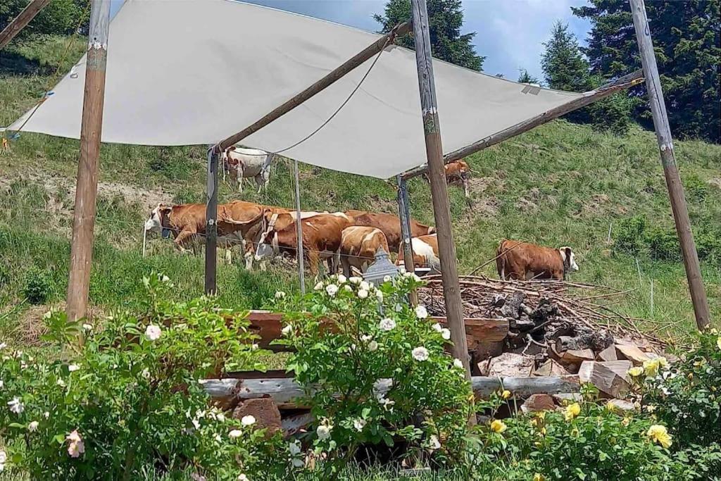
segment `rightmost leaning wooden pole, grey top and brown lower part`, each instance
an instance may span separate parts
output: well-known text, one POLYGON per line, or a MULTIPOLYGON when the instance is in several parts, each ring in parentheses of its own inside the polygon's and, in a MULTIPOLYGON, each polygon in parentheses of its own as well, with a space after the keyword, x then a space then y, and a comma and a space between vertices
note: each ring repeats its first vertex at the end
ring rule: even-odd
POLYGON ((665 102, 663 101, 663 90, 658 76, 656 57, 653 53, 653 41, 651 40, 648 18, 646 17, 646 6, 643 0, 631 0, 631 12, 633 14, 633 25, 636 29, 636 40, 641 53, 641 64, 646 77, 648 103, 653 115, 653 126, 660 150, 663 174, 666 178, 668 198, 671 200, 673 220, 676 221, 676 232, 681 243, 681 252, 684 254, 684 267, 686 268, 686 278, 689 281, 691 301, 694 304, 696 326, 699 327, 699 330, 704 330, 710 321, 709 301, 701 277, 701 266, 699 265, 699 255, 696 252, 694 234, 691 232, 691 219, 689 219, 689 208, 686 207, 684 185, 681 184, 681 177, 678 176, 678 169, 676 169, 671 126, 668 124, 668 115, 666 115, 665 102))

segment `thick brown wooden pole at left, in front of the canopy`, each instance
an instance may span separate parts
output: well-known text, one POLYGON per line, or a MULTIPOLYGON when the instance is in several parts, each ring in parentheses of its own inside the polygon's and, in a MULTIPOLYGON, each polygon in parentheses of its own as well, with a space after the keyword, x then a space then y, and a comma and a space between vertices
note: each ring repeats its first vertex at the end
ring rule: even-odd
POLYGON ((110 2, 92 0, 68 275, 66 312, 69 321, 80 319, 87 314, 109 27, 110 2))

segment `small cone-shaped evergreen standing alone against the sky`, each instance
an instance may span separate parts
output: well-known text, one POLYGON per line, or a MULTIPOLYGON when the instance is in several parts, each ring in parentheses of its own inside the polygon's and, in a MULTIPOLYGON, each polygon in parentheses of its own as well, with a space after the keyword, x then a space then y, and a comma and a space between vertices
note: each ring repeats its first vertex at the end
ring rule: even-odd
POLYGON ((575 35, 568 31, 568 24, 556 22, 551 38, 543 45, 546 50, 541 54, 541 68, 548 86, 568 92, 588 90, 588 62, 575 35))

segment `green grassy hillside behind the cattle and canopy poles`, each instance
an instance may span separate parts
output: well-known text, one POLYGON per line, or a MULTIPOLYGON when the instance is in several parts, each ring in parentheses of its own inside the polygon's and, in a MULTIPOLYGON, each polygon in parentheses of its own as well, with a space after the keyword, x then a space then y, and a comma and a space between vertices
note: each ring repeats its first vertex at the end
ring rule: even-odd
MULTIPOLYGON (((1 125, 32 107, 44 92, 64 42, 48 39, 43 45, 0 53, 1 125)), ((82 43, 74 45, 67 58, 78 58, 82 43)), ((71 63, 66 61, 61 71, 71 63)), ((309 130, 314 127, 309 125, 309 130)), ((709 246, 702 271, 718 319, 721 146, 698 141, 676 146, 694 232, 709 246)), ((23 326, 44 309, 25 301, 29 284, 37 288, 39 283, 47 292, 43 304, 57 304, 64 297, 78 148, 78 141, 23 133, 12 150, 0 156, 0 335, 22 335, 23 326)), ((472 199, 466 203, 459 188, 450 192, 461 273, 492 258, 504 237, 570 245, 580 265, 575 280, 635 289, 616 309, 648 319, 642 326, 655 332, 678 335, 693 329, 684 269, 673 260, 673 239, 668 245, 673 218, 652 133, 637 129, 617 137, 554 121, 466 160, 474 169, 472 199), (629 242, 640 239, 629 224, 632 218, 645 220, 646 231, 655 237, 629 254, 634 252, 629 242), (626 246, 623 251, 614 246, 618 239, 626 246)), ((150 255, 143 259, 141 229, 149 207, 159 201, 203 201, 205 148, 105 145, 100 181, 91 282, 94 309, 133 306, 141 290, 139 279, 152 269, 174 279, 179 298, 200 294, 202 256, 177 255, 167 240, 151 239, 150 255)), ((306 209, 395 209, 392 185, 309 165, 301 167, 301 193, 306 209)), ((433 223, 428 185, 413 180, 410 195, 413 216, 433 223)), ((220 198, 238 195, 221 187, 220 198)), ((275 164, 267 195, 246 191, 242 198, 291 206, 288 164, 275 164)), ((492 265, 482 273, 495 276, 492 265)), ((247 273, 239 264, 220 265, 218 270, 224 302, 242 307, 261 306, 281 286, 292 290, 294 279, 293 268, 283 265, 269 273, 247 273)))

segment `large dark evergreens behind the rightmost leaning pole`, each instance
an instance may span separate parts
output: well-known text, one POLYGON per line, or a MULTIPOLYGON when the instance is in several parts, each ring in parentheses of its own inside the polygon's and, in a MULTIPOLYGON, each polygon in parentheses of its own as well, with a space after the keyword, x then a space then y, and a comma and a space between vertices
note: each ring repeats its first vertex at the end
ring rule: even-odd
MULTIPOLYGON (((591 72, 606 79, 641 68, 631 10, 624 0, 572 8, 592 25, 583 49, 591 72)), ((721 142, 721 19, 718 0, 646 2, 661 87, 675 136, 721 142)), ((645 86, 631 90, 634 115, 652 125, 645 86)))

